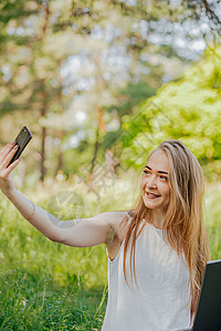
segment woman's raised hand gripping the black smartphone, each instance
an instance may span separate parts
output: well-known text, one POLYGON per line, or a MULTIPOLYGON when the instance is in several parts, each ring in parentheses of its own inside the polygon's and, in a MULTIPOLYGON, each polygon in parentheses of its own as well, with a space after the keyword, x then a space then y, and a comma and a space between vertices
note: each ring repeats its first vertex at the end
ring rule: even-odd
POLYGON ((14 190, 11 172, 19 164, 21 159, 15 160, 9 168, 7 168, 7 166, 13 158, 17 149, 18 146, 15 145, 15 141, 12 141, 0 150, 0 189, 6 195, 9 195, 14 190))

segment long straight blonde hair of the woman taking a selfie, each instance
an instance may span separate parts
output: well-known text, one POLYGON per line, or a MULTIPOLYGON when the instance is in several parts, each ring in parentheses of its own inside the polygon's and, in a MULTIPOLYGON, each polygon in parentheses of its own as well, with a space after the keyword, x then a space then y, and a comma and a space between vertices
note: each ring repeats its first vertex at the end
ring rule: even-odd
MULTIPOLYGON (((164 238, 177 252, 180 258, 186 258, 190 275, 190 308, 198 299, 207 260, 210 259, 209 241, 203 225, 202 202, 204 194, 204 178, 202 169, 193 153, 179 140, 162 141, 156 150, 164 150, 169 160, 170 168, 170 194, 169 205, 166 212, 162 234, 164 238)), ((151 151, 150 156, 156 151, 151 151)), ((135 246, 136 239, 140 235, 138 227, 144 218, 148 218, 150 210, 145 205, 141 190, 138 203, 128 211, 130 221, 125 217, 120 226, 127 226, 124 245, 124 275, 126 276, 126 254, 129 242, 130 249, 130 277, 131 258, 134 254, 134 276, 135 275, 135 246)), ((127 282, 128 285, 128 282, 127 282)), ((137 281, 136 281, 137 286, 137 281)))

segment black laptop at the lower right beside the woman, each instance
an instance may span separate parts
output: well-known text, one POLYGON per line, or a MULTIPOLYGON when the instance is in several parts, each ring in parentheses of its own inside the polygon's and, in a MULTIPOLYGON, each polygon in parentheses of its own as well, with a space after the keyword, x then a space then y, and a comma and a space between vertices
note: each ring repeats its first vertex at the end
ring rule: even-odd
POLYGON ((192 328, 176 331, 221 330, 221 259, 206 265, 202 287, 192 328))

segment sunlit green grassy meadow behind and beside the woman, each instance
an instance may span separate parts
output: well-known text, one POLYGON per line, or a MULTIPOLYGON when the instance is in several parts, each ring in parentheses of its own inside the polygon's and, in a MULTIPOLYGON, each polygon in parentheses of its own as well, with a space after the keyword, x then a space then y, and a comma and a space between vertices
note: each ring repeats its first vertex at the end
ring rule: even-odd
MULTIPOLYGON (((91 217, 129 209, 139 191, 133 171, 105 190, 97 188, 96 194, 76 179, 49 179, 43 186, 29 183, 19 190, 46 210, 59 196, 54 212, 62 220, 70 220, 73 213, 69 199, 65 202, 62 196, 77 194, 83 201, 82 217, 91 217)), ((220 195, 219 182, 206 184, 211 259, 221 258, 220 195)), ((104 244, 78 248, 50 242, 1 193, 0 261, 0 330, 101 330, 107 302, 104 244)))

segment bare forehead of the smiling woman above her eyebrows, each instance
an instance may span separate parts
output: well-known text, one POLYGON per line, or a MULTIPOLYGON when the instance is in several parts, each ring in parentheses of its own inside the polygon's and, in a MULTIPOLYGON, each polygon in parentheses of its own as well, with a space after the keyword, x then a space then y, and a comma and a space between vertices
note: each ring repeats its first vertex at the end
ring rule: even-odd
POLYGON ((156 150, 148 159, 147 166, 156 171, 169 172, 169 159, 164 150, 156 150))

